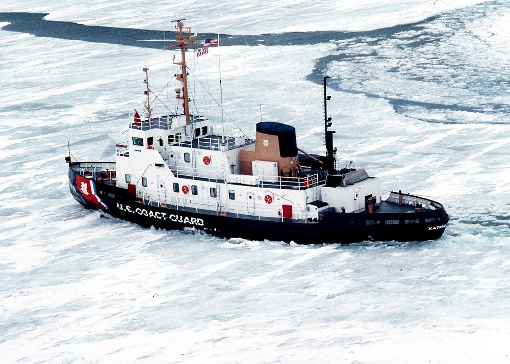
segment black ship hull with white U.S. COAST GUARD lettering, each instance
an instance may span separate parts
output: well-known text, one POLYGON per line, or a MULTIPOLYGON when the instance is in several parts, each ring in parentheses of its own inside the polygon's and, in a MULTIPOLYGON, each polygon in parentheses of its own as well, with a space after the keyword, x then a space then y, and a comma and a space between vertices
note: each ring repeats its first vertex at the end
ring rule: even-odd
MULTIPOLYGON (((144 227, 168 230, 196 228, 221 238, 243 238, 249 240, 273 240, 298 244, 349 244, 362 241, 427 241, 439 239, 446 228, 449 216, 444 207, 434 211, 417 213, 328 213, 317 223, 266 221, 237 218, 214 214, 197 213, 191 209, 172 210, 160 206, 143 204, 127 190, 111 184, 94 181, 101 204, 85 198, 77 188, 75 172, 69 169, 69 185, 72 196, 89 209, 103 210, 108 214, 144 227), (112 197, 113 196, 113 197, 112 197), (419 223, 386 225, 386 220, 409 220, 417 218, 419 223), (367 225, 374 219, 380 224, 367 225), (436 220, 424 222, 425 220, 436 220)), ((439 204, 438 204, 439 205, 439 204)), ((193 209, 195 210, 195 209, 193 209)))

